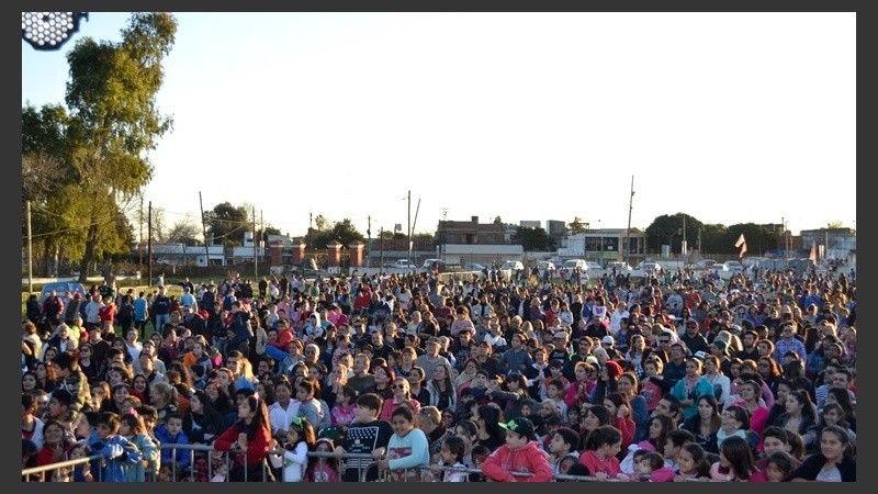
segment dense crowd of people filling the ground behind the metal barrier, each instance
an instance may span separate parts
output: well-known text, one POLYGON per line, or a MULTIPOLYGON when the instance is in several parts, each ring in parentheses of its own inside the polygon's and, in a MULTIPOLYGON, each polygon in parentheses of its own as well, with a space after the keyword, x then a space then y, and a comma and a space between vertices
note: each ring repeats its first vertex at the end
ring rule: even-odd
POLYGON ((22 323, 22 464, 101 456, 32 479, 76 482, 856 481, 853 280, 578 281, 53 293, 22 323))

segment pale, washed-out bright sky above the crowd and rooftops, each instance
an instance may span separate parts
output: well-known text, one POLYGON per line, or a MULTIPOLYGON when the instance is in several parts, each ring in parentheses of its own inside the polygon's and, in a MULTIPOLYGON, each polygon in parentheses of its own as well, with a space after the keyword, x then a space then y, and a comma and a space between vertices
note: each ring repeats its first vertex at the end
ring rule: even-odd
MULTIPOLYGON (((317 215, 375 237, 624 228, 629 210, 635 228, 856 227, 853 12, 175 16, 156 96, 173 131, 144 192, 168 226, 200 226, 201 192, 292 236, 317 215)), ((22 106, 63 104, 66 54, 128 19, 90 12, 57 52, 22 41, 22 106)))

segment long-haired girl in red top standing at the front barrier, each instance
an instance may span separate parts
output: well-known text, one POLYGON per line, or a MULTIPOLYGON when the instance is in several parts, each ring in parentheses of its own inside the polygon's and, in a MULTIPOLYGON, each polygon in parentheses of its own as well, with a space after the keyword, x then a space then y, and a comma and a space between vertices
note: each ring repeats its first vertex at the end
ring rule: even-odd
POLYGON ((215 450, 234 454, 229 482, 262 481, 262 462, 268 457, 270 440, 271 425, 266 402, 256 395, 245 397, 238 404, 238 420, 213 444, 215 450))

